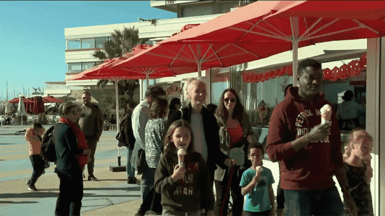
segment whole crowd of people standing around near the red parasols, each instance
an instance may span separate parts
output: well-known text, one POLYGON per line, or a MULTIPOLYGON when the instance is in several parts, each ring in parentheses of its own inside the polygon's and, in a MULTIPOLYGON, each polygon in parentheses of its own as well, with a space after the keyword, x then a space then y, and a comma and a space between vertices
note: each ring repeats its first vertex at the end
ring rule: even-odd
MULTIPOLYGON (((187 81, 183 108, 179 99, 169 104, 161 87, 148 87, 144 100, 127 105, 120 125, 125 141, 119 145, 128 148, 128 183, 136 183, 135 171, 142 174, 142 203, 135 215, 227 215, 230 195, 232 215, 281 216, 283 206, 287 215, 373 215, 371 136, 355 130, 342 154, 334 109, 331 119, 321 121, 321 108, 330 105, 320 92, 321 64, 300 62, 297 80, 298 87, 287 88, 273 110, 265 145, 257 142, 234 89, 224 90, 216 109, 208 110, 206 83, 200 79, 187 81), (263 166, 265 152, 279 162, 277 209, 273 172, 263 166)), ((103 118, 91 95, 82 97, 82 106, 67 102, 59 107, 62 118, 55 125, 56 215, 80 214, 86 164, 88 180, 97 180, 93 161, 103 118)), ((35 146, 43 133, 35 124, 25 136, 33 166, 30 190, 42 174, 35 146)))

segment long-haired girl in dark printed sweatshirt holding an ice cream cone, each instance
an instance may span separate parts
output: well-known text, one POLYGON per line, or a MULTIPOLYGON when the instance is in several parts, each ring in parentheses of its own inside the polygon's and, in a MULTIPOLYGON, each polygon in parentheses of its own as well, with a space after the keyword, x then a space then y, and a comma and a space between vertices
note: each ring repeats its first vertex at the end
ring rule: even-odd
POLYGON ((164 152, 155 171, 155 190, 162 194, 163 215, 201 215, 206 203, 207 215, 214 215, 214 194, 209 169, 200 153, 195 152, 191 127, 186 120, 174 121, 164 137, 164 152), (183 165, 177 151, 183 149, 183 165))

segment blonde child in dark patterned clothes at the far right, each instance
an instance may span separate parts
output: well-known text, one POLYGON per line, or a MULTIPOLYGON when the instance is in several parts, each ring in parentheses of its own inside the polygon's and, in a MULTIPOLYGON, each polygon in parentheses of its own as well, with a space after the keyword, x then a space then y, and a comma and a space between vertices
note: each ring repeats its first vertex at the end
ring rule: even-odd
MULTIPOLYGON (((350 187, 350 193, 357 205, 358 215, 373 215, 370 179, 373 169, 370 166, 370 152, 373 138, 363 130, 352 132, 344 148, 343 161, 350 187)), ((349 214, 349 212, 346 212, 349 214)))

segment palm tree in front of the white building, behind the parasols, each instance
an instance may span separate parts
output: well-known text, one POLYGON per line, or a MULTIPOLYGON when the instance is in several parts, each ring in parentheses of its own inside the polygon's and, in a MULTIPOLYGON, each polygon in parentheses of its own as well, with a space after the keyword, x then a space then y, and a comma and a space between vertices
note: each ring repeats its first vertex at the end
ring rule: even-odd
MULTIPOLYGON (((104 42, 104 52, 96 50, 93 56, 100 60, 120 57, 132 51, 132 49, 145 42, 146 40, 139 38, 139 30, 124 27, 123 31, 115 29, 111 34, 110 40, 104 42)), ((115 83, 115 81, 100 79, 97 88, 103 89, 107 83, 115 83)), ((138 80, 121 80, 118 82, 118 95, 127 95, 131 100, 134 97, 134 90, 139 87, 138 80)))

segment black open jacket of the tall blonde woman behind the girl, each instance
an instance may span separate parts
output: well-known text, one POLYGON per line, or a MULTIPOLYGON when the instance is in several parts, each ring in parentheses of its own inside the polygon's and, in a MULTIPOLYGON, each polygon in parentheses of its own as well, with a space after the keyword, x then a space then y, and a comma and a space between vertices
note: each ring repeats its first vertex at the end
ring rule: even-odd
MULTIPOLYGON (((172 122, 181 119, 182 117, 184 120, 190 123, 192 109, 193 108, 191 107, 191 104, 188 104, 188 107, 182 109, 183 116, 180 110, 175 111, 171 115, 171 118, 167 120, 167 123, 165 125, 165 133, 167 133, 168 128, 170 127, 172 122)), ((203 128, 205 131, 205 139, 207 143, 207 166, 210 170, 211 179, 214 179, 214 171, 217 168, 216 164, 218 164, 222 168, 227 167, 223 162, 228 157, 223 154, 219 148, 219 127, 214 114, 207 111, 205 107, 202 107, 201 113, 203 117, 203 128)))

